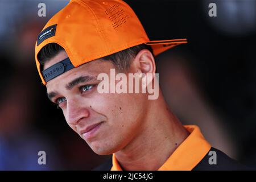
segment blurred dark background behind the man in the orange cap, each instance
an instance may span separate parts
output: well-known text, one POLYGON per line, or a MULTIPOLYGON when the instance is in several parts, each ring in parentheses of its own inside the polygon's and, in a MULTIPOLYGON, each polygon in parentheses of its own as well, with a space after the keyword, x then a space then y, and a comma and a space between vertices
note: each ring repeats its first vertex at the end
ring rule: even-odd
MULTIPOLYGON (((47 99, 34 45, 52 15, 69 1, 0 0, 0 170, 92 169, 99 156, 69 129, 47 99), (38 4, 46 16, 38 16, 38 4), (38 164, 46 151, 47 165, 38 164)), ((184 125, 256 168, 256 1, 126 1, 150 40, 187 38, 156 57, 160 85, 184 125), (217 16, 210 17, 209 3, 217 16)))

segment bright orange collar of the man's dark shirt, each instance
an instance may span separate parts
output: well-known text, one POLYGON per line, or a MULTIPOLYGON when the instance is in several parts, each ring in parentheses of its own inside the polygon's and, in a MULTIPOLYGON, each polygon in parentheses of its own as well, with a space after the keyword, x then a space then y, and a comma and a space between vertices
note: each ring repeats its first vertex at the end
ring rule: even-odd
MULTIPOLYGON (((190 134, 158 171, 190 171, 208 154, 211 146, 201 134, 199 127, 195 125, 184 127, 190 134)), ((111 171, 122 171, 115 154, 112 156, 112 164, 111 171)))

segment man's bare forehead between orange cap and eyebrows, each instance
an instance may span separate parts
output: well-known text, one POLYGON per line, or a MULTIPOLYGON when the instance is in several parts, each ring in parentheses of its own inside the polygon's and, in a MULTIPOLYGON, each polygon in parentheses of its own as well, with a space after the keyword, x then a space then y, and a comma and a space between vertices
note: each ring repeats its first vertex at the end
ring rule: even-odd
MULTIPOLYGON (((59 52, 55 57, 51 60, 47 61, 44 65, 44 69, 51 67, 53 64, 59 63, 60 61, 66 59, 68 57, 65 51, 59 52)), ((80 76, 89 76, 95 77, 97 80, 97 76, 100 73, 108 73, 110 72, 110 68, 114 68, 114 65, 110 61, 104 60, 93 60, 89 61, 88 63, 82 64, 77 68, 73 68, 52 80, 47 82, 47 92, 56 92, 59 88, 64 88, 70 81, 74 80, 80 76)))

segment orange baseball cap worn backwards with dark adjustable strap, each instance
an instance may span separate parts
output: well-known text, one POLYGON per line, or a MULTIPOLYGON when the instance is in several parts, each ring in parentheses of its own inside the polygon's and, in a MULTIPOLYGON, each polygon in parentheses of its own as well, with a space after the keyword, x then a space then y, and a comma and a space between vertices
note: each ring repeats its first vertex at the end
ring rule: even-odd
POLYGON ((46 85, 69 69, 143 43, 150 45, 156 56, 187 43, 187 39, 150 41, 138 17, 124 1, 72 0, 39 34, 35 45, 36 67, 46 85), (63 47, 68 59, 42 71, 38 53, 49 43, 63 47))

